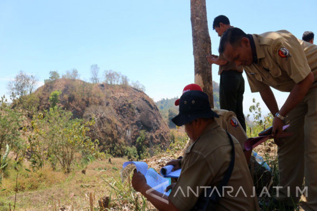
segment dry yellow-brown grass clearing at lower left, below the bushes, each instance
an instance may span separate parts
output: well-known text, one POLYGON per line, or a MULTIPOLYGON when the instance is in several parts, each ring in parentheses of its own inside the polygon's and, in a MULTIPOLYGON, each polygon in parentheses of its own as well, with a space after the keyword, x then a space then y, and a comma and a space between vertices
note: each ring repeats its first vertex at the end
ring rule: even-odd
MULTIPOLYGON (((94 161, 89 164, 86 169, 86 174, 80 171, 73 172, 69 175, 64 175, 61 172, 51 171, 49 168, 43 168, 41 171, 32 173, 33 177, 19 176, 19 187, 28 187, 29 183, 38 183, 39 186, 35 190, 24 189, 17 193, 16 210, 53 210, 54 206, 60 208, 71 207, 74 210, 88 210, 92 205, 98 207, 98 199, 105 195, 110 195, 111 187, 102 179, 119 180, 119 169, 121 169, 123 158, 112 158, 112 162, 94 161), (41 176, 39 176, 41 175, 41 176), (39 178, 37 178, 39 177, 39 178), (89 201, 89 195, 92 193, 92 199, 89 201)), ((12 175, 12 177, 16 176, 12 175)), ((9 181, 9 178, 7 178, 9 181)), ((15 184, 6 183, 6 188, 14 190, 15 184)), ((4 184, 3 184, 4 187, 4 184)), ((35 186, 32 186, 35 188, 35 186)), ((11 205, 14 202, 14 193, 9 190, 0 192, 0 203, 5 202, 11 205)), ((3 206, 5 207, 5 206, 3 206)), ((0 206, 0 210, 4 211, 0 206)))

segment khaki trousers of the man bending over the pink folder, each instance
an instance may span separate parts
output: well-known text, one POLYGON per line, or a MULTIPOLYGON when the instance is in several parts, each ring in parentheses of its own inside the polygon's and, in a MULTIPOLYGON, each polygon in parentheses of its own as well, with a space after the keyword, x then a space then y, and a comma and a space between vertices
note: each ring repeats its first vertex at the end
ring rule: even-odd
POLYGON ((317 82, 287 114, 285 124, 290 125, 286 132, 294 135, 284 138, 284 145, 278 147, 279 178, 283 188, 277 199, 290 204, 298 203, 301 194, 296 187, 303 190, 305 177, 307 210, 317 210, 317 82))

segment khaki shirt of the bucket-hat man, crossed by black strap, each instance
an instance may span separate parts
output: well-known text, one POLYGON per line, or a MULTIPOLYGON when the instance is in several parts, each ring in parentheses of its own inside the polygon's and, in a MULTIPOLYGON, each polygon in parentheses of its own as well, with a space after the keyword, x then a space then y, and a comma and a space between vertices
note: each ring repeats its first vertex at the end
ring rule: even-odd
MULTIPOLYGON (((224 189, 224 197, 219 200, 216 210, 260 210, 244 154, 239 142, 234 137, 232 139, 235 145, 235 165, 227 186, 233 188, 229 193, 233 197, 228 195, 230 188, 224 189)), ((227 133, 216 122, 210 123, 200 138, 186 151, 180 177, 168 196, 173 205, 182 211, 190 210, 197 202, 198 196, 204 194, 204 188, 201 187, 217 186, 229 167, 231 150, 227 133)))

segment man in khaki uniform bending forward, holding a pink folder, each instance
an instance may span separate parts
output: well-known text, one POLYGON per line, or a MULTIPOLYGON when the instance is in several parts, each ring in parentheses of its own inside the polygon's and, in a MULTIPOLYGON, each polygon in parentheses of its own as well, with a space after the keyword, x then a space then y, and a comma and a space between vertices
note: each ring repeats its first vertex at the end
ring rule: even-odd
POLYGON ((230 28, 220 40, 219 52, 243 65, 251 91, 260 92, 275 115, 272 136, 278 145, 282 186, 277 200, 288 208, 297 203, 296 187, 301 189, 305 177, 307 202, 302 202, 300 210, 317 210, 317 46, 286 30, 245 34, 230 28), (270 87, 289 92, 281 109, 270 87), (294 135, 280 140, 286 124, 290 125, 287 132, 294 135))

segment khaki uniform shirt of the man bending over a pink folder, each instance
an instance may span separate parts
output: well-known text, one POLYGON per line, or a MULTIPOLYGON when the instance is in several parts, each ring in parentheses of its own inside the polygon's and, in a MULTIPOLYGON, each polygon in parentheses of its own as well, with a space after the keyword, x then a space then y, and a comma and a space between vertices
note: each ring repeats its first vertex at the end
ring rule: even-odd
POLYGON ((258 63, 243 66, 252 92, 267 85, 290 92, 312 71, 317 78, 317 46, 286 30, 253 34, 258 63))

